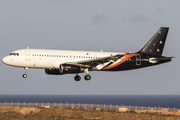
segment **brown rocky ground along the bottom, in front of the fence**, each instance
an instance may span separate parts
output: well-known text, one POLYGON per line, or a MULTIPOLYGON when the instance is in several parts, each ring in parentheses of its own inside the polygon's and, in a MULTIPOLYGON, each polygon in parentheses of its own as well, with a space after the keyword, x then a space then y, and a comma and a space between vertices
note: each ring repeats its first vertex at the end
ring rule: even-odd
POLYGON ((118 111, 73 108, 37 108, 0 106, 0 120, 180 120, 180 116, 157 113, 121 113, 118 111))

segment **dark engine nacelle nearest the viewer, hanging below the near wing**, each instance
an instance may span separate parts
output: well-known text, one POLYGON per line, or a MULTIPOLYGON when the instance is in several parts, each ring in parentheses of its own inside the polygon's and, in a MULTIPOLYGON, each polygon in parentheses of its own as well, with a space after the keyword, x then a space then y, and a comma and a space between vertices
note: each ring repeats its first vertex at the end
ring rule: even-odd
POLYGON ((82 73, 82 72, 84 72, 84 68, 77 66, 77 65, 61 64, 59 66, 59 72, 61 74, 82 73))

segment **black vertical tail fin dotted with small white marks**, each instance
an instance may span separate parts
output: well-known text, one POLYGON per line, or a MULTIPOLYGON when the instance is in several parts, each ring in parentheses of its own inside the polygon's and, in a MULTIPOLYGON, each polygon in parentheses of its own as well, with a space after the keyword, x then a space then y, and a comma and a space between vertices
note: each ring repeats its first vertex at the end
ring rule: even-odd
POLYGON ((161 56, 168 30, 168 27, 161 27, 139 52, 161 56))

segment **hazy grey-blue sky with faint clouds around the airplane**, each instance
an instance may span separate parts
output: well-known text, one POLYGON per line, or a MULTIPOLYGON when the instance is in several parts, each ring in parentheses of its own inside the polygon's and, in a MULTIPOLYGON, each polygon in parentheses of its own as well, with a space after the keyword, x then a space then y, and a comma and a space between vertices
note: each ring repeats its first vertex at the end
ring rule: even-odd
POLYGON ((137 52, 160 27, 172 62, 121 72, 47 75, 0 62, 0 95, 180 95, 179 0, 0 0, 0 58, 17 49, 137 52))

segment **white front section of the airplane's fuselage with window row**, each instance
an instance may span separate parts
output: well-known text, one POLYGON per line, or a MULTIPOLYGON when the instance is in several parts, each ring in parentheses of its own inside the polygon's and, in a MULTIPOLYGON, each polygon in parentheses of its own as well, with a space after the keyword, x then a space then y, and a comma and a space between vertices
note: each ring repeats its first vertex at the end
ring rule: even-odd
POLYGON ((15 67, 59 69, 59 65, 108 57, 114 52, 90 52, 70 50, 20 49, 3 58, 3 62, 15 67))

